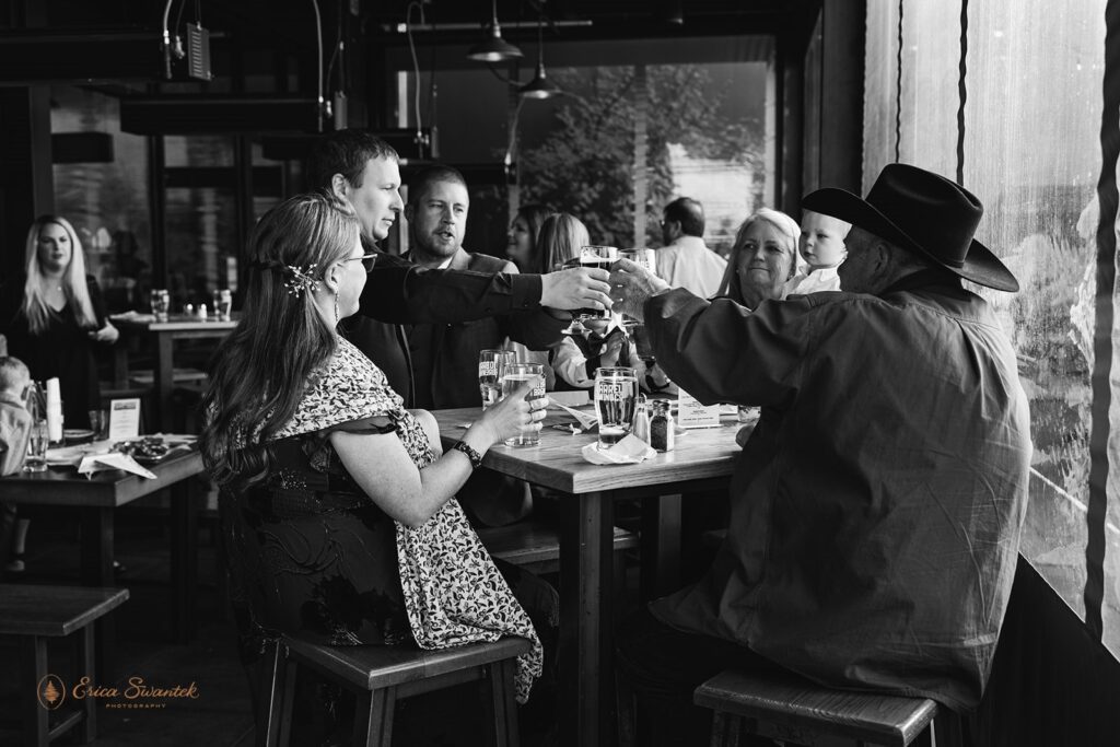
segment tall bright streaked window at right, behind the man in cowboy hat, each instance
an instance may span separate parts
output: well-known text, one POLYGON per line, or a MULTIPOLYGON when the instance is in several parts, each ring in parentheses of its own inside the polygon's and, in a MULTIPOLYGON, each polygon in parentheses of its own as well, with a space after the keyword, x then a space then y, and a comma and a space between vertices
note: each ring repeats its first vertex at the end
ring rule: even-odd
MULTIPOLYGON (((1094 562, 1086 561, 1086 538, 1101 529, 1086 512, 1090 430, 1094 415, 1109 418, 1091 389, 1094 304, 1114 309, 1118 298, 1114 289, 1100 299, 1095 292, 1104 6, 969 3, 963 110, 959 0, 908 0, 900 29, 898 3, 868 3, 867 21, 865 188, 897 157, 951 178, 960 168, 983 202, 978 237, 1021 284, 1016 295, 982 291, 1012 335, 1030 401, 1021 550, 1082 615, 1094 562)), ((1120 347, 1116 330, 1112 340, 1120 347)), ((1113 364, 1112 433, 1120 432, 1116 375, 1113 364)), ((1095 458, 1111 457, 1102 450, 1095 458)), ((1117 465, 1109 468, 1107 484, 1095 486, 1108 495, 1103 637, 1120 654, 1120 480, 1117 465)))

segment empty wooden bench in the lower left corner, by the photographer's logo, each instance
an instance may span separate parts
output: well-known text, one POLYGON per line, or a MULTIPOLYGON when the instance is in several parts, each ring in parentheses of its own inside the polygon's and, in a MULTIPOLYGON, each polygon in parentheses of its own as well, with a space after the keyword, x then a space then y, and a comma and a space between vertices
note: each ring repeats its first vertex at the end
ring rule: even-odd
POLYGON ((97 682, 93 622, 124 604, 128 589, 0 583, 0 635, 19 638, 19 691, 25 745, 45 747, 75 726, 83 743, 97 736, 96 699, 76 709, 59 710, 82 676, 97 682), (74 681, 64 681, 47 666, 47 638, 78 633, 74 681), (52 713, 65 713, 54 719, 52 713))

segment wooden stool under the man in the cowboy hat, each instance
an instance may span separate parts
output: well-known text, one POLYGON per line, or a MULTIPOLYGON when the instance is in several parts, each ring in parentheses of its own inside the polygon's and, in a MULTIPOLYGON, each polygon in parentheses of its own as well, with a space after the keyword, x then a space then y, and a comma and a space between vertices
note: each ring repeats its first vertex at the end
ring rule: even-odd
POLYGON ((797 745, 836 744, 906 747, 936 720, 936 745, 960 744, 956 717, 928 698, 849 692, 822 687, 794 673, 720 672, 696 689, 697 706, 710 708, 712 747, 735 747, 756 734, 797 745))

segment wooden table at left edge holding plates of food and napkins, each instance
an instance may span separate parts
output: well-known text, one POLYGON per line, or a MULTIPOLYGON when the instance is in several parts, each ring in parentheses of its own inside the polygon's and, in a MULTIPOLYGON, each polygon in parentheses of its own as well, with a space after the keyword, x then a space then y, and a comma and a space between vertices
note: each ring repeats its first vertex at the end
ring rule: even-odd
MULTIPOLYGON (((99 471, 91 477, 74 466, 52 466, 46 471, 20 471, 0 478, 0 496, 17 506, 50 507, 76 516, 81 526, 81 582, 90 587, 113 587, 114 512, 139 498, 170 488, 171 631, 185 643, 196 632, 195 595, 198 576, 197 516, 199 491, 190 479, 203 471, 197 448, 177 449, 157 464, 146 465, 155 479, 122 469, 99 471)), ((2 544, 2 542, 0 542, 2 544)), ((0 547, 7 558, 7 548, 0 547)), ((96 623, 99 672, 110 672, 115 629, 112 615, 96 623)))

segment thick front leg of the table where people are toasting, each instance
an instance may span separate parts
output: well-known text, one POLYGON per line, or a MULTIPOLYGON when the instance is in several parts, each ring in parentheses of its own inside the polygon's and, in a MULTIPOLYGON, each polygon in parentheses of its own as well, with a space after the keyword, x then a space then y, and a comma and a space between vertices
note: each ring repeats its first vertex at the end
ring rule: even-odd
POLYGON ((612 575, 614 504, 608 493, 561 501, 560 741, 609 745, 614 701, 612 575))

